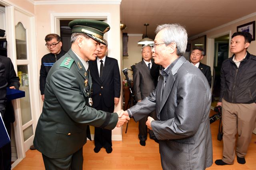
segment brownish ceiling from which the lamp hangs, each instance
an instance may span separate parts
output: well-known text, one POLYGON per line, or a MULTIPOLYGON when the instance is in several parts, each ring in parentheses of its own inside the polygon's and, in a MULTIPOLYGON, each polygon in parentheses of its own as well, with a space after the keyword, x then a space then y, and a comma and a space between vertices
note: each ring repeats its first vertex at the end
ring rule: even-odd
POLYGON ((154 39, 157 25, 180 23, 192 37, 256 12, 256 0, 122 0, 124 33, 154 39))

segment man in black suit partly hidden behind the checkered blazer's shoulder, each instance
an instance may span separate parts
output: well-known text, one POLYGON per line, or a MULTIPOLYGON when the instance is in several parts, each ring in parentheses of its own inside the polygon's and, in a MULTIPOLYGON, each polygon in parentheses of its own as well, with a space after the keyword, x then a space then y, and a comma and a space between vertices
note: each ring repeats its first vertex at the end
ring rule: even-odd
POLYGON ((195 47, 190 55, 190 61, 194 66, 199 68, 206 76, 210 87, 212 87, 212 74, 211 68, 208 65, 200 63, 200 60, 204 58, 204 50, 200 47, 195 47))

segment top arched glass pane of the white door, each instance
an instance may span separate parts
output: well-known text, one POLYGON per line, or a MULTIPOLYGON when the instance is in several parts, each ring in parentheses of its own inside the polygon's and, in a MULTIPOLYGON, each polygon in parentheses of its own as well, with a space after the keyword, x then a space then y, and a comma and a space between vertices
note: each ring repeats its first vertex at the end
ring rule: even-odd
POLYGON ((15 26, 16 33, 16 55, 18 60, 26 60, 27 59, 27 41, 26 41, 26 29, 19 22, 15 26))

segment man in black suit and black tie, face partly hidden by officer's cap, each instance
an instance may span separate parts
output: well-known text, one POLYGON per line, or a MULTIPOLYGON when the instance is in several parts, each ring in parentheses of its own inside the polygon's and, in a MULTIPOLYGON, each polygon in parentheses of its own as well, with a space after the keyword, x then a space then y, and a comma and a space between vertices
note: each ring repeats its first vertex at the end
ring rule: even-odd
MULTIPOLYGON (((100 44, 95 61, 89 61, 89 69, 92 76, 92 101, 97 110, 108 112, 114 111, 114 106, 117 106, 120 98, 121 79, 118 62, 116 59, 106 56, 108 51, 108 42, 104 39, 104 44, 100 44)), ((112 131, 95 127, 94 132, 94 152, 98 153, 102 147, 107 153, 112 152, 112 131)))

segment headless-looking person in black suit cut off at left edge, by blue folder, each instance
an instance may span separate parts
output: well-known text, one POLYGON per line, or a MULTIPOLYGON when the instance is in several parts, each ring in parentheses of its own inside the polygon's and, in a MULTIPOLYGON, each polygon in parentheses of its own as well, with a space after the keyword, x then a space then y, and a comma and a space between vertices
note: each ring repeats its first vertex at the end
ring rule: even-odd
MULTIPOLYGON (((6 81, 8 83, 7 87, 11 89, 19 89, 20 82, 19 78, 16 76, 16 72, 14 70, 14 66, 12 64, 12 61, 8 57, 0 56, 0 63, 3 63, 5 66, 5 76, 6 81)), ((4 125, 6 127, 6 130, 11 136, 11 123, 15 121, 14 117, 14 109, 12 106, 12 101, 8 100, 6 102, 6 110, 4 113, 4 125)), ((11 144, 7 144, 4 147, 2 147, 2 151, 4 154, 3 163, 4 163, 4 170, 10 170, 11 169, 11 144)))

